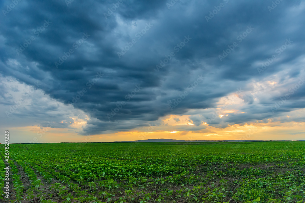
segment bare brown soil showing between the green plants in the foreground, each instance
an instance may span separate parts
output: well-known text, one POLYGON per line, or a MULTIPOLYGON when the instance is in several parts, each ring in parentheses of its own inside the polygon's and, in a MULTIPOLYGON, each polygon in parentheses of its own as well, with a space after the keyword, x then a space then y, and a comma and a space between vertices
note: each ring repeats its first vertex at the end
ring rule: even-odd
MULTIPOLYGON (((17 169, 18 169, 18 175, 20 175, 20 180, 22 181, 23 183, 23 186, 24 186, 24 190, 23 190, 23 201, 21 201, 22 203, 38 203, 40 202, 40 198, 37 198, 35 197, 34 199, 31 199, 31 200, 26 200, 26 197, 27 197, 27 194, 26 192, 32 188, 32 185, 30 183, 30 180, 29 180, 29 177, 27 176, 27 174, 23 171, 23 168, 18 165, 17 163, 15 163, 17 169)), ((289 168, 287 163, 284 163, 283 166, 278 166, 276 163, 267 163, 267 164, 235 164, 235 166, 230 166, 230 167, 234 167, 236 168, 237 170, 244 170, 245 168, 250 168, 250 167, 253 167, 254 169, 260 169, 260 170, 264 170, 266 174, 278 174, 278 173, 285 173, 286 171, 292 171, 294 170, 293 168, 289 168)), ((198 174, 199 176, 201 176, 201 174, 205 175, 206 172, 212 172, 214 170, 220 170, 220 171, 225 171, 226 169, 228 169, 229 167, 227 165, 210 165, 210 166, 205 166, 205 165, 201 165, 201 166, 197 166, 197 170, 196 171, 192 171, 192 173, 194 174, 198 174), (209 168, 210 167, 210 168, 209 168)), ((65 183, 62 183, 60 182, 60 180, 56 180, 56 179, 52 179, 50 181, 46 181, 38 172, 36 172, 33 168, 31 168, 34 173, 37 175, 37 179, 40 179, 41 180, 41 183, 42 185, 40 187, 38 187, 38 190, 34 192, 34 194, 38 195, 39 193, 45 193, 45 197, 46 199, 50 199, 51 201, 55 201, 55 202, 58 202, 58 203, 61 203, 63 202, 64 200, 62 199, 62 197, 60 197, 58 194, 56 194, 56 191, 54 190, 51 190, 50 187, 52 186, 52 184, 54 183, 61 183, 62 185, 65 185, 65 183), (52 198, 50 198, 50 196, 48 194, 52 194, 52 198)), ((305 171, 305 169, 303 169, 303 171, 305 171)), ((60 173, 60 171, 57 171, 60 173)), ((188 175, 190 176, 190 175, 188 175)), ((12 174, 10 173, 10 177, 12 177, 12 174)), ((257 178, 260 178, 259 176, 256 176, 257 178)), ((263 177, 263 176, 262 176, 263 177)), ((228 180, 227 182, 227 190, 230 191, 231 193, 235 193, 236 189, 239 187, 239 184, 236 184, 234 183, 236 180, 241 180, 243 178, 243 176, 235 176, 235 177, 232 177, 232 176, 223 176, 221 178, 216 178, 216 179, 213 179, 213 180, 205 180, 206 184, 204 185, 205 187, 211 187, 211 183, 212 182, 215 182, 215 185, 217 186, 218 184, 218 181, 220 179, 226 179, 228 180)), ((10 179, 11 180, 11 179, 10 179)), ((72 181, 72 180, 71 180, 72 181)), ((73 181, 75 184, 77 184, 76 181, 73 181)), ((191 183, 191 184, 185 184, 183 187, 187 187, 188 189, 193 189, 193 186, 194 185, 199 185, 200 183, 202 183, 203 180, 199 180, 199 182, 196 182, 196 183, 191 183)), ((122 183, 124 184, 124 183, 122 183)), ((89 188, 88 186, 84 186, 84 185, 79 185, 77 184, 79 187, 82 188, 82 190, 87 190, 87 192, 89 194, 92 194, 90 193, 89 188)), ((75 196, 75 193, 70 190, 67 185, 66 186, 66 190, 68 190, 68 193, 71 193, 73 196, 75 196)), ((10 199, 9 200, 13 200, 15 195, 16 195, 16 192, 13 190, 13 181, 10 181, 10 184, 9 184, 9 187, 10 187, 10 191, 11 193, 9 194, 9 197, 10 199)), ((156 199, 158 198, 158 196, 160 195, 161 191, 165 190, 165 189, 169 189, 169 190, 173 190, 174 193, 175 193, 175 190, 181 190, 183 187, 181 187, 181 185, 172 185, 172 184, 167 184, 165 183, 164 185, 154 185, 154 186, 151 186, 151 185, 148 185, 145 187, 145 189, 143 189, 143 191, 145 191, 145 194, 147 193, 154 193, 156 192, 156 194, 152 194, 152 198, 156 199)), ((119 187, 118 189, 115 189, 114 191, 112 192, 115 192, 115 194, 118 194, 118 192, 121 194, 121 196, 113 196, 112 199, 118 199, 122 196, 124 196, 124 190, 126 188, 122 188, 122 187, 119 187)), ((142 191, 142 188, 134 188, 135 190, 135 193, 136 192, 140 192, 142 191)), ((99 188, 98 191, 96 191, 97 193, 99 191, 102 191, 102 188, 99 188)), ((108 191, 109 192, 109 191, 108 191)), ((112 193, 111 192, 111 193, 112 193)), ((120 195, 119 194, 119 195, 120 195)), ((142 194, 142 195, 139 195, 137 197, 135 197, 135 200, 134 201, 138 201, 140 200, 141 198, 144 198, 144 195, 145 194, 142 194)), ((185 200, 183 200, 182 198, 174 198, 176 196, 177 193, 175 193, 172 197, 173 199, 170 199, 169 197, 164 197, 164 200, 166 200, 167 202, 180 202, 180 203, 184 203, 186 202, 185 200)), ((182 195, 182 194, 181 194, 182 195)), ((101 201, 103 201, 101 198, 99 198, 101 201)), ((72 202, 76 202, 74 200, 71 200, 72 202)), ((131 197, 128 201, 131 201, 131 197)), ((235 200, 231 199, 231 197, 227 196, 224 200, 224 202, 228 201, 229 203, 233 203, 233 202, 236 202, 235 200)), ((5 200, 4 202, 9 202, 8 200, 5 200)))

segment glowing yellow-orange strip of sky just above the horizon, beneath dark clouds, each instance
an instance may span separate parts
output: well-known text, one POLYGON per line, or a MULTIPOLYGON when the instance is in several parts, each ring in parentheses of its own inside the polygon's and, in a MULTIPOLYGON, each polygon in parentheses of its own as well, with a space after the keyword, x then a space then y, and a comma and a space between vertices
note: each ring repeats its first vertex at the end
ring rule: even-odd
MULTIPOLYGON (((177 117, 177 116, 174 116, 177 117)), ((164 130, 180 127, 165 119, 165 125, 143 127, 130 131, 101 135, 77 135, 76 129, 68 128, 41 128, 39 126, 26 126, 10 129, 11 143, 38 143, 38 142, 114 142, 134 141, 143 139, 178 139, 178 140, 304 140, 305 122, 256 123, 239 125, 234 124, 226 128, 215 128, 208 124, 198 131, 164 130), (162 129, 163 128, 163 129, 162 129), (16 136, 17 135, 17 136, 16 136), (21 135, 21 136, 20 136, 21 135), (288 136, 289 135, 289 136, 288 136), (15 139, 17 138, 18 139, 15 139)), ((193 124, 184 122, 182 125, 193 124), (185 123, 185 124, 184 124, 185 123)), ((75 125, 75 124, 74 124, 75 125)), ((199 126, 200 127, 200 126, 199 126)))

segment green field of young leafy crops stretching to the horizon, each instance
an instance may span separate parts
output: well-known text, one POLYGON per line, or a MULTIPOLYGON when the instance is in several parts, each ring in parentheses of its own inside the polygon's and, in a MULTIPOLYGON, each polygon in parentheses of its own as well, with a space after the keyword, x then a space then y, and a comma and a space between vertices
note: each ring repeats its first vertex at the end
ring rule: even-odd
POLYGON ((9 145, 0 202, 304 202, 305 142, 9 145))

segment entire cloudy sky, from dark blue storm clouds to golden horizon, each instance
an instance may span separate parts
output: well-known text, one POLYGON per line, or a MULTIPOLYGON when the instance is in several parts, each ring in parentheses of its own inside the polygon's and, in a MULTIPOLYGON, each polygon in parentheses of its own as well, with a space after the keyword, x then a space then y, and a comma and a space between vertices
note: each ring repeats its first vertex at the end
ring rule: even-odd
MULTIPOLYGON (((1 1, 11 143, 304 140, 305 1, 1 1)), ((2 142, 2 141, 1 141, 2 142)))

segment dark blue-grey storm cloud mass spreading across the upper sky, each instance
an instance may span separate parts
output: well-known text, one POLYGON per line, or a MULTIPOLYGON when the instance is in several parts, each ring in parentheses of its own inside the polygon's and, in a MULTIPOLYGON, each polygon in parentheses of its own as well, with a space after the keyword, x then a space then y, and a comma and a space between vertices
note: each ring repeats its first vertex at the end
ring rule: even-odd
MULTIPOLYGON (((10 3, 3 1, 1 10, 10 3)), ((303 68, 296 66, 304 50, 303 1, 282 1, 272 10, 272 1, 181 0, 169 7, 170 1, 122 1, 106 18, 114 3, 73 1, 67 6, 65 1, 23 0, 1 16, 2 74, 29 85, 40 81, 46 94, 90 115, 83 134, 123 131, 168 114, 215 108, 220 97, 245 89, 253 80, 285 69, 285 76, 297 78, 303 68), (224 7, 213 11, 221 3, 224 7), (216 14, 207 22, 210 12, 216 14), (257 68, 287 39, 291 45, 259 74, 257 68), (29 40, 23 50, 20 44, 29 40), (230 47, 234 49, 220 60, 230 47), (126 53, 119 58, 122 48, 126 53), (20 65, 10 64, 12 59, 20 65), (195 88, 198 75, 204 79, 195 88), (185 91, 181 103, 169 108, 168 101, 185 91)), ((226 122, 264 120, 304 108, 304 86, 275 114, 270 108, 276 95, 267 103, 264 98, 255 103, 246 93, 240 98, 247 113, 230 114, 226 122)), ((191 119, 196 126, 204 120, 191 119)), ((205 122, 223 122, 218 120, 205 122)))

